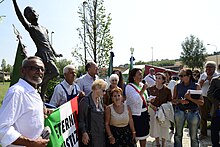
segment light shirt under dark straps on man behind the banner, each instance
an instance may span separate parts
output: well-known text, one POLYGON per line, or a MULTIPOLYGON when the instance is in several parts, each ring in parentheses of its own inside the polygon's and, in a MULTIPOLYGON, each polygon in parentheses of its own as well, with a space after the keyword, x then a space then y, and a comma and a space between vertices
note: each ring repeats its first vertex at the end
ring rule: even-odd
MULTIPOLYGON (((69 85, 66 82, 66 80, 63 80, 60 84, 62 84, 63 87, 66 89, 68 95, 71 95, 72 92, 73 92, 73 95, 78 94, 80 92, 80 88, 76 83, 69 85)), ((54 88, 53 96, 50 100, 50 104, 52 104, 56 107, 67 102, 66 92, 64 91, 63 87, 60 84, 58 84, 54 88)))

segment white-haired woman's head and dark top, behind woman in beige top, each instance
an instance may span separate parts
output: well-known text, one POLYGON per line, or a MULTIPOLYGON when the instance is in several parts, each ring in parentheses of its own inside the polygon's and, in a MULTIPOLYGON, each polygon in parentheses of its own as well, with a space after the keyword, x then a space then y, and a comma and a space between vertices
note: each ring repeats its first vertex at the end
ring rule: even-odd
POLYGON ((104 102, 105 107, 112 104, 112 100, 110 98, 110 93, 111 93, 112 89, 118 87, 117 86, 118 81, 119 81, 118 75, 117 74, 111 74, 111 76, 109 77, 110 85, 109 85, 108 89, 106 90, 106 93, 103 96, 103 102, 104 102))

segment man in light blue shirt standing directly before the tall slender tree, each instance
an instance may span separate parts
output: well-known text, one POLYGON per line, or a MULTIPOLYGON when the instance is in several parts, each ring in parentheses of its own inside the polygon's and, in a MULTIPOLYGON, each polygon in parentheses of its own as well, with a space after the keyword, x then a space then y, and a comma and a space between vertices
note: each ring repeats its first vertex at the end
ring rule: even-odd
POLYGON ((80 89, 88 95, 92 91, 92 83, 98 79, 98 66, 95 62, 91 61, 86 64, 87 73, 77 79, 77 84, 80 89))

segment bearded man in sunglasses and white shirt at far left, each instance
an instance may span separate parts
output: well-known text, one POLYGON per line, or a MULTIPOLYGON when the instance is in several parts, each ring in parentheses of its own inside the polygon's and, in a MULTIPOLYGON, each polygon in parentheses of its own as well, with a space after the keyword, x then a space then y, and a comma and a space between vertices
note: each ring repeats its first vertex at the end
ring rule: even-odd
POLYGON ((0 109, 0 144, 44 147, 49 139, 44 129, 43 101, 37 92, 45 67, 41 58, 31 56, 22 63, 22 78, 9 88, 0 109))

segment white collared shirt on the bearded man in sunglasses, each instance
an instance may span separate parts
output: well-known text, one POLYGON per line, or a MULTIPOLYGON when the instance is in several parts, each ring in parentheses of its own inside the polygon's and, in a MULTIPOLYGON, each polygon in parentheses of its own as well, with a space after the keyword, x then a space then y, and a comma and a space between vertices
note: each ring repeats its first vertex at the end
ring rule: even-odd
POLYGON ((10 145, 21 135, 37 139, 44 128, 43 102, 23 79, 9 88, 0 109, 0 144, 10 145))

